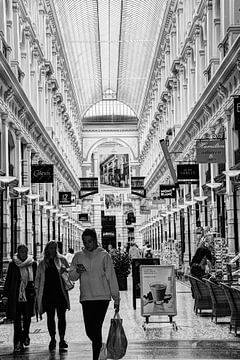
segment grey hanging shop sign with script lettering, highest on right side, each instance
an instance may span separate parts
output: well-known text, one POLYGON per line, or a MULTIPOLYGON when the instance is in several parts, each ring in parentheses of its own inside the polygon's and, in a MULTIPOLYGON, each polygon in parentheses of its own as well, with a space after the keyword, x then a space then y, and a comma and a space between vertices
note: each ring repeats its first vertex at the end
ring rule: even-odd
POLYGON ((197 163, 225 163, 225 140, 197 140, 196 142, 197 163))

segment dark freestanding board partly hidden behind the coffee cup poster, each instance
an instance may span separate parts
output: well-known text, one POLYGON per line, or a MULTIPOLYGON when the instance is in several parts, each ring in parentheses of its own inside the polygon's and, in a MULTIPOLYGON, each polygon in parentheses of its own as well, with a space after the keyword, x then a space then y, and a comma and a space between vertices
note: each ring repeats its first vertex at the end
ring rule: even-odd
POLYGON ((133 308, 136 310, 136 299, 140 298, 140 265, 159 265, 159 258, 135 258, 132 259, 133 277, 133 308))

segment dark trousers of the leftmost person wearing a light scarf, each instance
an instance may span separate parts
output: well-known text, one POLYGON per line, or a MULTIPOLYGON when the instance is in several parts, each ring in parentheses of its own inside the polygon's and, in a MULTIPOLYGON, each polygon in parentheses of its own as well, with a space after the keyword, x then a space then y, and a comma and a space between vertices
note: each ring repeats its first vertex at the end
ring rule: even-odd
POLYGON ((18 302, 16 308, 16 317, 14 319, 14 345, 18 341, 23 342, 29 336, 31 324, 31 309, 28 302, 18 302))

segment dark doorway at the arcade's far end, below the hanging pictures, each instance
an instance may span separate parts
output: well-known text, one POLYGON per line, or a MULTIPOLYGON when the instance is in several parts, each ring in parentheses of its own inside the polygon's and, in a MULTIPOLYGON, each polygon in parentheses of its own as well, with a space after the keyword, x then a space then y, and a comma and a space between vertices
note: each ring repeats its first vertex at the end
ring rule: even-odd
POLYGON ((105 216, 102 211, 102 247, 108 249, 108 245, 113 248, 117 247, 116 242, 116 217, 105 216))

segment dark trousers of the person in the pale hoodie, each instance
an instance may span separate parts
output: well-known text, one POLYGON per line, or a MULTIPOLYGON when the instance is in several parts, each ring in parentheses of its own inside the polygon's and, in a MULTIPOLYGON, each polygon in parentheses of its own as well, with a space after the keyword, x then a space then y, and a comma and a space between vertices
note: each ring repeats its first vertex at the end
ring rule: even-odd
POLYGON ((82 302, 86 334, 92 341, 93 360, 98 360, 102 347, 102 325, 108 305, 108 300, 82 302))

